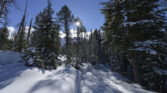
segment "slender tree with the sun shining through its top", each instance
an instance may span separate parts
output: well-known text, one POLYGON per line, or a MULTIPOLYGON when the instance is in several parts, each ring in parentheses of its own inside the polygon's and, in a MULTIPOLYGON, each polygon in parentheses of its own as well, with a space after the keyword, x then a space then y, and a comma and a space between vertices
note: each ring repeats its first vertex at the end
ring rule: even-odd
POLYGON ((86 61, 86 28, 79 17, 75 19, 76 23, 76 43, 74 42, 73 55, 76 58, 75 67, 79 68, 82 62, 86 61), (76 47, 76 48, 75 48, 76 47))

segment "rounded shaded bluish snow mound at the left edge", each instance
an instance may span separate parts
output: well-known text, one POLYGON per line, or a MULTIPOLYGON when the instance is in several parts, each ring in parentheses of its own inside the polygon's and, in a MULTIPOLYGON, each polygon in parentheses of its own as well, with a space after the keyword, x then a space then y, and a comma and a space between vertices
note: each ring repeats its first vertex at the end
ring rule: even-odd
POLYGON ((0 51, 0 65, 12 64, 21 61, 21 54, 12 51, 0 51))

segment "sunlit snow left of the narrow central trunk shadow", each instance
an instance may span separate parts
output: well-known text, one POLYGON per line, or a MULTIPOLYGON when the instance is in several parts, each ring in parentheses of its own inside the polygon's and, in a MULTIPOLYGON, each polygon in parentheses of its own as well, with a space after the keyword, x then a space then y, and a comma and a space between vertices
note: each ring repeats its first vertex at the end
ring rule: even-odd
POLYGON ((0 93, 75 93, 75 76, 71 66, 46 71, 23 63, 4 65, 0 67, 0 93))

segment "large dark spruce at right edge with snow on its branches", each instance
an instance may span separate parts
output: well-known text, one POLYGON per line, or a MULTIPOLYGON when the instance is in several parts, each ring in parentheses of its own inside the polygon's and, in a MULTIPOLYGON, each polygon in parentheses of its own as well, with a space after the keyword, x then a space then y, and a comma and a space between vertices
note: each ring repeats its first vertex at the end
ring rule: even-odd
POLYGON ((166 17, 160 1, 126 1, 127 20, 124 27, 130 32, 127 55, 131 59, 135 81, 162 92, 166 91, 165 78, 156 69, 165 69, 167 65, 164 59, 167 57, 167 42, 164 33, 166 17))

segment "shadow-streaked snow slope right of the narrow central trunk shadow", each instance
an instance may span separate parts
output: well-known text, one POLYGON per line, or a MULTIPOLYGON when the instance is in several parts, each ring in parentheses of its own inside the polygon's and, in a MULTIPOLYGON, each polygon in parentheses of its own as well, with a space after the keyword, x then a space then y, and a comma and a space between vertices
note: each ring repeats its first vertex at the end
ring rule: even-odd
POLYGON ((91 69, 82 76, 81 93, 151 93, 137 84, 126 83, 120 74, 104 67, 88 68, 91 69))

